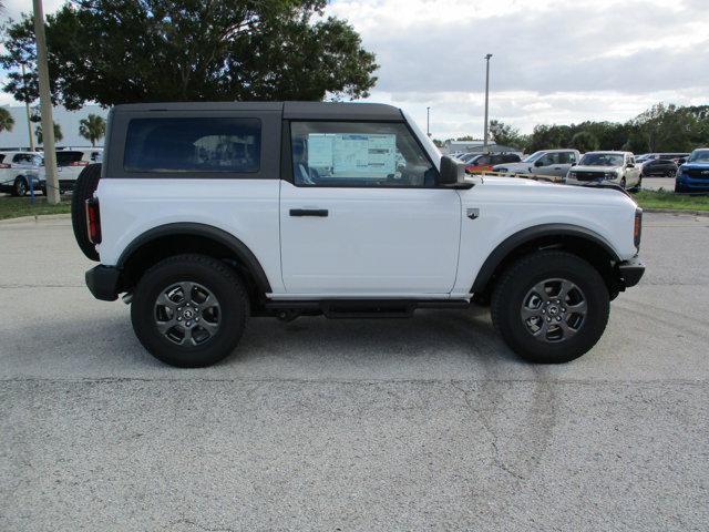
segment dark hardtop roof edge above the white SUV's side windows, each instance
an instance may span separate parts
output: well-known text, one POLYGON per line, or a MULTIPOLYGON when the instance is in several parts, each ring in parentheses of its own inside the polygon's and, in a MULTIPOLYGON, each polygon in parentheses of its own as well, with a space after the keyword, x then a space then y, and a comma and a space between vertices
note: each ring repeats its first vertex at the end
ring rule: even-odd
POLYGON ((125 103, 113 112, 280 111, 286 120, 402 120, 401 110, 383 103, 357 102, 165 102, 125 103))

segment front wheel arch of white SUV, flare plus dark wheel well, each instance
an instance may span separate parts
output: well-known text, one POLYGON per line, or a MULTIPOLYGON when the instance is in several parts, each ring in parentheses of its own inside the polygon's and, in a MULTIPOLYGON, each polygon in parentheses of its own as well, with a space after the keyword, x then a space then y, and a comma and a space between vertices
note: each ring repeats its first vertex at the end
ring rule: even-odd
POLYGON ((499 274, 516 258, 540 249, 566 249, 588 260, 603 276, 608 290, 618 290, 614 264, 620 257, 596 232, 572 224, 543 224, 518 231, 493 249, 480 268, 471 293, 487 294, 499 274))

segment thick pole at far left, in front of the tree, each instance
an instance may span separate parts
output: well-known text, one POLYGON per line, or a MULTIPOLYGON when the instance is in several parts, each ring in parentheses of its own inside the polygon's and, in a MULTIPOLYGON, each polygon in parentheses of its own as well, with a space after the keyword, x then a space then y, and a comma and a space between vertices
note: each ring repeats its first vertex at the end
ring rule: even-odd
POLYGON ((44 12, 42 0, 34 2, 34 39, 37 41, 37 73, 40 82, 40 108, 42 112, 42 144, 44 145, 44 178, 47 201, 53 205, 61 201, 56 181, 56 152, 54 151, 54 120, 49 86, 47 63, 47 37, 44 34, 44 12))

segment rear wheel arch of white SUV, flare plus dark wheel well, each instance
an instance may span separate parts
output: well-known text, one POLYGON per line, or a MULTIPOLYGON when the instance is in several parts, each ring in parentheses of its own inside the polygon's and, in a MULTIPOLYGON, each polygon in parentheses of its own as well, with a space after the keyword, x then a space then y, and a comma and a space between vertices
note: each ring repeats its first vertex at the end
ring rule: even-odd
POLYGON ((116 262, 123 287, 135 286, 143 272, 163 258, 184 253, 203 253, 229 263, 246 277, 254 295, 271 291, 263 266, 244 242, 218 227, 188 222, 160 225, 133 239, 116 262))

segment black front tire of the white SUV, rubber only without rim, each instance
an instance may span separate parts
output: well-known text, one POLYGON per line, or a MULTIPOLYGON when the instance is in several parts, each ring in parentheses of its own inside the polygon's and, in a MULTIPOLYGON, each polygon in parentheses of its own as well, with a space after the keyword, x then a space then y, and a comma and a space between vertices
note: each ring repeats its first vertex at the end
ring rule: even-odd
POLYGON ((538 364, 563 364, 584 355, 603 335, 608 313, 608 289, 596 268, 565 252, 536 252, 514 262, 500 277, 491 305, 492 321, 504 341, 525 360, 538 364), (557 342, 535 338, 521 316, 532 287, 549 278, 572 282, 583 291, 587 304, 578 331, 557 342))

